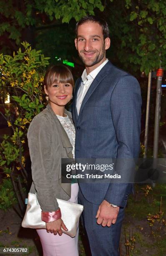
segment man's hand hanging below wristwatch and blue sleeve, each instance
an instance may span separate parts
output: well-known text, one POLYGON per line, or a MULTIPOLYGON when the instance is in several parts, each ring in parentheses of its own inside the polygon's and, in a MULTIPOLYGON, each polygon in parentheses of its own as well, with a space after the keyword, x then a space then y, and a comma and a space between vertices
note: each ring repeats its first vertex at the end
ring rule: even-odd
POLYGON ((98 207, 98 212, 96 215, 97 223, 103 227, 110 227, 111 224, 116 223, 118 216, 119 207, 113 207, 109 202, 103 200, 101 205, 98 207))

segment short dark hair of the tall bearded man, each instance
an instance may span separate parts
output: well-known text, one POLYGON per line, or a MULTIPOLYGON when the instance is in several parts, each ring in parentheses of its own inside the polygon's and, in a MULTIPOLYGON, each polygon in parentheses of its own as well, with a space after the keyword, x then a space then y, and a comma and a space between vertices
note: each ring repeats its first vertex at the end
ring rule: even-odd
POLYGON ((96 23, 98 23, 103 29, 103 38, 104 38, 104 40, 107 37, 109 37, 109 28, 108 28, 108 24, 107 24, 106 20, 104 20, 103 18, 100 18, 98 16, 93 16, 93 15, 87 15, 87 16, 81 18, 77 22, 77 24, 75 26, 76 36, 77 36, 78 27, 80 25, 82 25, 83 23, 86 23, 86 22, 96 22, 96 23))

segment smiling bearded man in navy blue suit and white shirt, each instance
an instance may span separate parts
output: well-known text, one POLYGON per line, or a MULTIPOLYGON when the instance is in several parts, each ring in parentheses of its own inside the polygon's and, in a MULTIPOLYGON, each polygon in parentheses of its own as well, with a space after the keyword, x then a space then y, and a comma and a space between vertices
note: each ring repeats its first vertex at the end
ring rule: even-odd
MULTIPOLYGON (((105 20, 87 16, 76 25, 75 47, 85 64, 75 84, 75 158, 138 157, 141 93, 137 80, 106 59, 105 20)), ((79 199, 92 256, 119 255, 123 211, 132 184, 80 183, 79 199)))

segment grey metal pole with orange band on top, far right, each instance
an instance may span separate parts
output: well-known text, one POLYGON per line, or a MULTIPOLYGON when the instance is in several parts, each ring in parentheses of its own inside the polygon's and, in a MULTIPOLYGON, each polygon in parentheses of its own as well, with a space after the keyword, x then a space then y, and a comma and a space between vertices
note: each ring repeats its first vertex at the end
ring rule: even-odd
POLYGON ((161 83, 163 77, 163 69, 157 70, 157 87, 156 87, 156 109, 155 109, 155 123, 154 123, 154 141, 153 141, 153 158, 157 158, 158 155, 158 136, 160 126, 160 106, 161 106, 161 83))

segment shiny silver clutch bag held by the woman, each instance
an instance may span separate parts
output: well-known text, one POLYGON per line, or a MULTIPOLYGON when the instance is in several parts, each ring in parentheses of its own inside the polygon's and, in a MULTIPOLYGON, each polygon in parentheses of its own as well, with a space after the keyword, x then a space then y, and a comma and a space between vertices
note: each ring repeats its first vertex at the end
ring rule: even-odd
MULTIPOLYGON (((83 205, 57 199, 60 207, 62 220, 68 231, 62 229, 63 233, 74 237, 77 232, 77 226, 80 215, 83 211, 83 205)), ((28 205, 22 221, 23 228, 44 228, 45 222, 41 220, 41 208, 36 194, 28 193, 28 205)))

